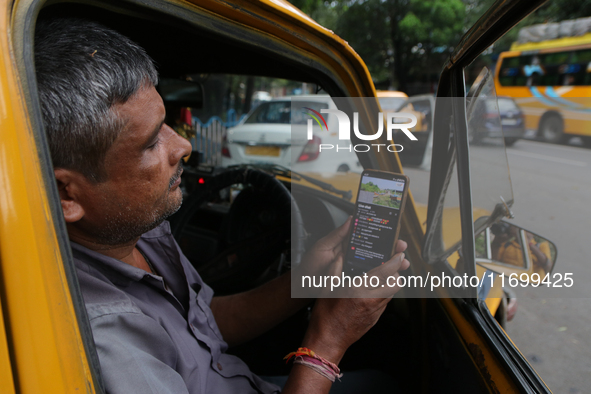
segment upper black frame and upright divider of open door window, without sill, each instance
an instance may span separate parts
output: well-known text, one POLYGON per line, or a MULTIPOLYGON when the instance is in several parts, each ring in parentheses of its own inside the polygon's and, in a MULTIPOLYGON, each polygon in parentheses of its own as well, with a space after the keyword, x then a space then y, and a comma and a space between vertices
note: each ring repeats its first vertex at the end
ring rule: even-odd
MULTIPOLYGON (((457 163, 461 217, 460 251, 464 261, 468 262, 468 264, 464 264, 465 273, 476 274, 470 157, 463 100, 467 93, 464 83, 464 69, 525 15, 533 12, 543 3, 544 1, 528 4, 515 0, 511 2, 497 1, 466 32, 443 67, 437 89, 436 100, 438 102, 435 106, 433 130, 433 145, 439 148, 433 149, 432 156, 432 164, 435 164, 432 165, 432 168, 441 168, 442 170, 438 173, 431 171, 430 174, 427 229, 423 241, 423 258, 429 264, 442 264, 451 253, 455 252, 453 250, 440 256, 433 256, 428 245, 432 242, 441 242, 443 203, 453 167, 457 163), (447 150, 443 148, 446 145, 448 146, 447 150)), ((466 290, 468 296, 466 298, 475 297, 475 291, 466 290)))

